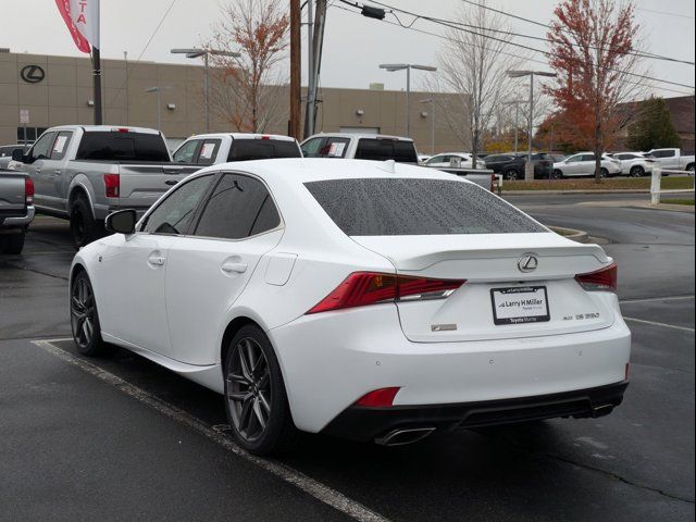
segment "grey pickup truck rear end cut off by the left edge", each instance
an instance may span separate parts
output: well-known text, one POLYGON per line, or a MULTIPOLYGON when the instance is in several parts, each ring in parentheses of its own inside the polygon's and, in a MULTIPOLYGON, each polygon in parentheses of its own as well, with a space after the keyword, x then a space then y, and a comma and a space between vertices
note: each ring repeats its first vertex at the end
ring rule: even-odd
POLYGON ((0 253, 22 253, 34 220, 34 183, 26 174, 0 170, 0 253))

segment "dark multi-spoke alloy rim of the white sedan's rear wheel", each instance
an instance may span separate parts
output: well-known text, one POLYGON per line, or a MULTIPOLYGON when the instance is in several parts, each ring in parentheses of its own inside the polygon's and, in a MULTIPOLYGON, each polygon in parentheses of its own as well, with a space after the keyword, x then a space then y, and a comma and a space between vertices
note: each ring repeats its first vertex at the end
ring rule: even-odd
POLYGON ((233 348, 228 364, 227 401, 235 431, 247 442, 258 440, 273 406, 269 361, 256 339, 244 337, 233 348))

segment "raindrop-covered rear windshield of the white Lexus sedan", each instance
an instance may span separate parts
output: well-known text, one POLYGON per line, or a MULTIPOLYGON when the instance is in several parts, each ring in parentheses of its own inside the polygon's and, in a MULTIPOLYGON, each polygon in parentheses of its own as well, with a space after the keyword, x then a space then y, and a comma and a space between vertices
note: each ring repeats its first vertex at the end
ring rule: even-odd
POLYGON ((357 178, 304 186, 348 236, 546 232, 489 191, 460 181, 357 178))

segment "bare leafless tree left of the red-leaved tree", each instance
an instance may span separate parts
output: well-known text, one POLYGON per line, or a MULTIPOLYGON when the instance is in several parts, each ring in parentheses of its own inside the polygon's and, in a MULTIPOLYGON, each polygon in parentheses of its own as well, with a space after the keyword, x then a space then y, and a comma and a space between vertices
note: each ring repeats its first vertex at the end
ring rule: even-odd
POLYGON ((520 59, 509 53, 506 18, 486 9, 485 0, 478 5, 462 3, 455 22, 439 54, 439 87, 458 96, 440 113, 464 146, 471 147, 475 166, 484 132, 513 89, 507 72, 520 59))

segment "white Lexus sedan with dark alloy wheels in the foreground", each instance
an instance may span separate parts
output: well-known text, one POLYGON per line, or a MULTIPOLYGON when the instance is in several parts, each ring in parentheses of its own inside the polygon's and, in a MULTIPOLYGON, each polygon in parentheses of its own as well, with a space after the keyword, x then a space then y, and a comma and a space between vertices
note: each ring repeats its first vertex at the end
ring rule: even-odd
POLYGON ((224 395, 254 452, 596 418, 627 386, 617 266, 478 186, 394 162, 213 165, 79 250, 72 330, 224 395))

